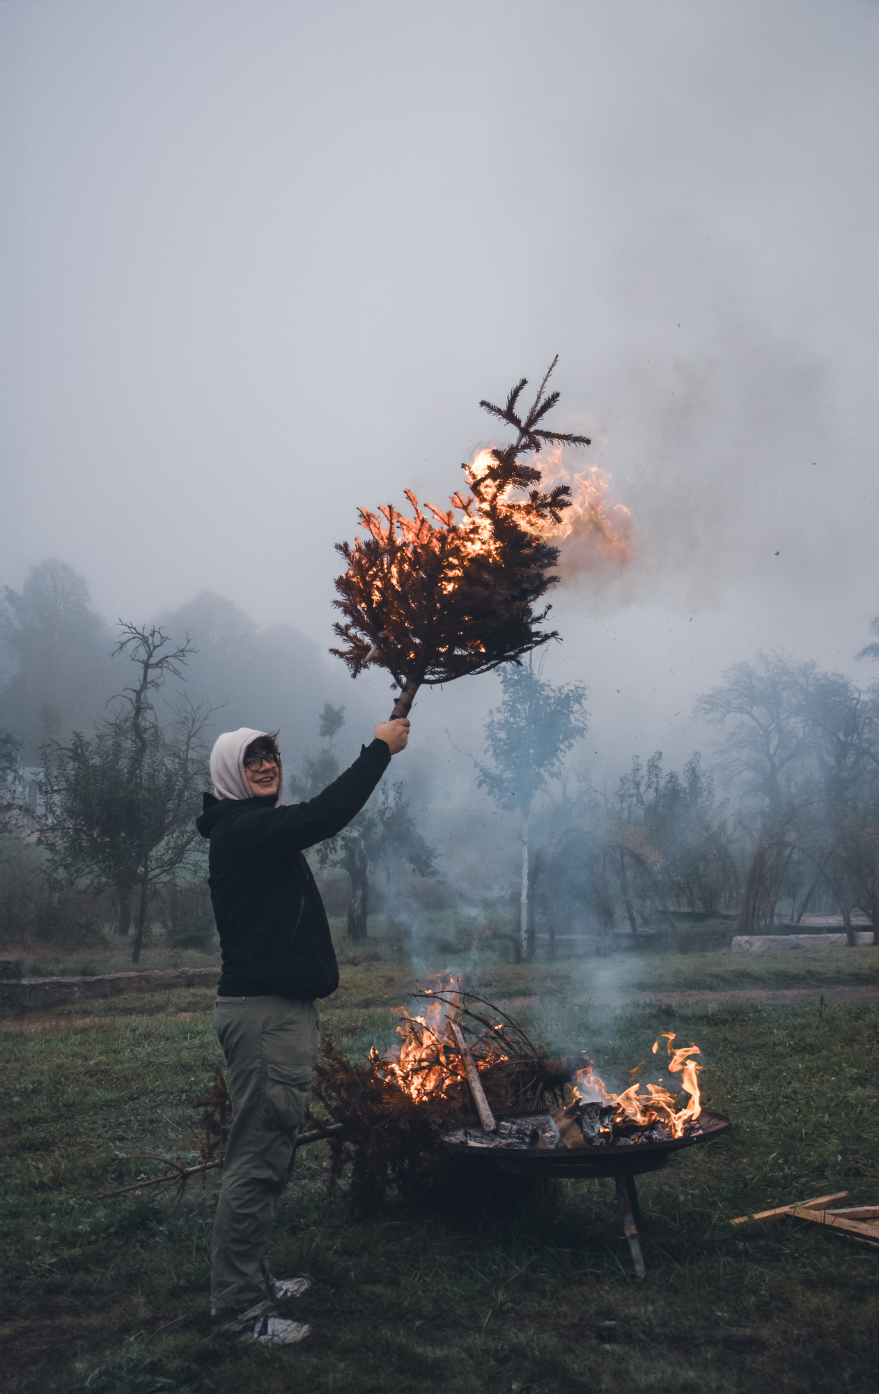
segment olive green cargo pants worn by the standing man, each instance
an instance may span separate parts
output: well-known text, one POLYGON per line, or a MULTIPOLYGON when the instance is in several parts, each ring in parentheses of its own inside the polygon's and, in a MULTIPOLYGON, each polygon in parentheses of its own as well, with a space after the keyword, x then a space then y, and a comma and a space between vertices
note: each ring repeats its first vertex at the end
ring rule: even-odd
POLYGON ((213 1020, 233 1107, 210 1267, 210 1308, 224 1315, 266 1296, 274 1202, 287 1185, 320 1029, 313 1002, 286 997, 217 997, 213 1020))

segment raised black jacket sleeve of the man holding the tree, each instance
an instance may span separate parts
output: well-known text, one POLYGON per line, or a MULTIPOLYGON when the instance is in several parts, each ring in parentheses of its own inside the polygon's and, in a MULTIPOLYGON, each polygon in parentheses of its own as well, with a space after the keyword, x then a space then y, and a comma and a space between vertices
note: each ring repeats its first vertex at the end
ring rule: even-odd
POLYGON ((373 740, 316 799, 235 818, 230 827, 235 850, 256 857, 277 856, 284 850, 304 852, 334 836, 361 811, 389 764, 387 743, 373 740))

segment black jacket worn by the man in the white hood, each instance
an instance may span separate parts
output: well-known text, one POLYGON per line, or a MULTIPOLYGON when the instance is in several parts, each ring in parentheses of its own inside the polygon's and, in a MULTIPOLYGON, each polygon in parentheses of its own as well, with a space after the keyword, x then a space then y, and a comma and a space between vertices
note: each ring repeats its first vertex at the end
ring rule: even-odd
POLYGON ((390 764, 384 740, 308 803, 274 807, 274 795, 205 795, 196 821, 210 838, 210 899, 223 951, 220 997, 329 997, 339 965, 304 848, 340 832, 390 764))

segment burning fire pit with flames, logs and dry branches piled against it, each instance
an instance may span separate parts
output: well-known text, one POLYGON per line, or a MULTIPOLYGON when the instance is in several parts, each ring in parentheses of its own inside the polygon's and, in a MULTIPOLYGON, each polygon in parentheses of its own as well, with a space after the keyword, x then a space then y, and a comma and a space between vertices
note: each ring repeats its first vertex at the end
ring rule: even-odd
POLYGON ((628 1071, 634 1083, 614 1093, 588 1051, 547 1061, 518 1022, 446 976, 412 997, 423 1015, 394 1009, 397 1048, 373 1047, 364 1066, 330 1043, 318 1066, 318 1098, 340 1125, 330 1140, 330 1175, 352 1164, 354 1213, 373 1210, 391 1184, 411 1196, 451 1192, 460 1204, 456 1158, 464 1156, 495 1168, 486 1174, 486 1210, 499 1171, 536 1179, 613 1177, 635 1273, 644 1277, 635 1177, 730 1128, 729 1118, 702 1108, 699 1047, 676 1047, 674 1033, 662 1032, 651 1051, 662 1073, 642 1059, 628 1071), (560 1107, 547 1107, 550 1100, 560 1107))

